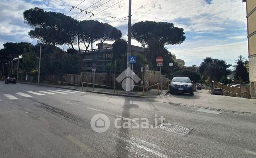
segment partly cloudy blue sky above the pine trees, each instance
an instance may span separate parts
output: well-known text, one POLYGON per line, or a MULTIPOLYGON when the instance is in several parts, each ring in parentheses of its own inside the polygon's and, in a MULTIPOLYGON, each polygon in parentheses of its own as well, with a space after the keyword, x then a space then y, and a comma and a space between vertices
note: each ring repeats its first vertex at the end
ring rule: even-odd
MULTIPOLYGON (((78 20, 89 18, 109 23, 121 30, 122 38, 127 39, 128 21, 120 19, 128 16, 129 0, 0 1, 0 48, 6 42, 37 43, 36 39, 31 39, 28 35, 32 28, 24 23, 23 11, 40 7, 45 11, 66 14, 72 6, 81 2, 77 7, 89 7, 86 11, 94 14, 102 12, 89 18, 90 14, 82 16, 82 12, 77 15, 80 10, 73 9, 67 16, 77 15, 75 19, 79 18, 78 20), (110 7, 111 5, 114 6, 110 7)), ((166 45, 166 48, 178 59, 183 59, 185 66, 200 66, 205 57, 223 59, 228 64, 234 64, 240 54, 248 57, 246 8, 242 0, 132 0, 132 24, 145 20, 174 23, 175 27, 184 29, 186 40, 180 45, 166 45)), ((132 40, 132 45, 141 46, 135 40, 132 40)), ((71 46, 60 47, 66 50, 71 46)))

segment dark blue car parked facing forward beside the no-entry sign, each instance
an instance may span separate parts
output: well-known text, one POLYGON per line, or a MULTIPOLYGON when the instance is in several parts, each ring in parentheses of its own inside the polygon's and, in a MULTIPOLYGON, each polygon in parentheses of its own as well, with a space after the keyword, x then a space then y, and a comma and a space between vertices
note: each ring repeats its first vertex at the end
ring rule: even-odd
POLYGON ((170 84, 170 94, 189 93, 194 95, 193 82, 188 77, 174 77, 170 84))

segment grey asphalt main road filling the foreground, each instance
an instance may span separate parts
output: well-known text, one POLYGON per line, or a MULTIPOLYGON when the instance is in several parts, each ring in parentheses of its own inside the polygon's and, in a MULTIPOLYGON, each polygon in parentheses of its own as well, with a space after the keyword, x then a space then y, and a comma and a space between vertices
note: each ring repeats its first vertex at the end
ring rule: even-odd
POLYGON ((256 157, 255 116, 71 92, 0 82, 0 157, 256 157), (95 114, 109 118, 107 131, 91 128, 95 114), (147 125, 154 126, 156 115, 191 131, 181 135, 155 127, 114 125, 116 118, 121 118, 118 125, 134 118, 143 124, 146 118, 147 125))

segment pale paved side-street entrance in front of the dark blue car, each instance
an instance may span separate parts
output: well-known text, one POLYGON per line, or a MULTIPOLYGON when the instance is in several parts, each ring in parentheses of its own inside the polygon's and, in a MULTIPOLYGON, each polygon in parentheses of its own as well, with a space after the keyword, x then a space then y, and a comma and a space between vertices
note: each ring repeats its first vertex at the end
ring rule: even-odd
POLYGON ((237 112, 251 112, 256 114, 256 99, 235 98, 230 96, 212 95, 209 90, 197 90, 194 96, 190 94, 168 94, 166 98, 171 103, 188 106, 200 106, 225 109, 237 112))

